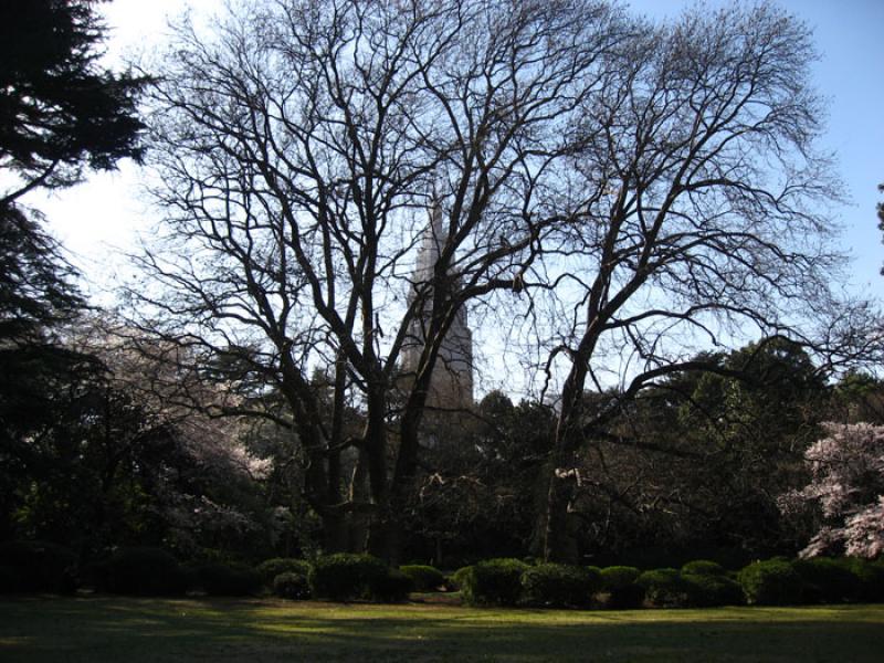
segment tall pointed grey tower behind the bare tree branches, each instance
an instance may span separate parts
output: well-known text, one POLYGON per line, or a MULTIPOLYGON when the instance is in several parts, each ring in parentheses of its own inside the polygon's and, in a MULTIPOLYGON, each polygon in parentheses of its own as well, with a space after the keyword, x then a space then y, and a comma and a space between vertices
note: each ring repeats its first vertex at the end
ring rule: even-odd
MULTIPOLYGON (((442 206, 433 197, 430 210, 430 223, 423 232, 418 261, 414 269, 414 286, 410 295, 411 302, 419 291, 433 278, 435 264, 448 241, 444 229, 442 206)), ((457 287, 457 283, 452 284, 457 287)), ((412 376, 418 370, 421 352, 427 341, 432 311, 432 293, 421 292, 425 296, 422 312, 414 317, 408 328, 408 337, 402 346, 402 368, 412 376)), ((410 303, 411 303, 410 302, 410 303)), ((469 409, 473 406, 473 334, 466 323, 466 312, 457 311, 442 345, 439 348, 433 373, 430 378, 430 390, 427 404, 440 409, 469 409)))

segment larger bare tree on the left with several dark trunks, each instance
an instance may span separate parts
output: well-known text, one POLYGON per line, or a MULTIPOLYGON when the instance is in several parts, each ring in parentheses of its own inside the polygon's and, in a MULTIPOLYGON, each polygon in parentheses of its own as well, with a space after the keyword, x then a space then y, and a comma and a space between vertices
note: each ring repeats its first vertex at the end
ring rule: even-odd
POLYGON ((366 513, 370 549, 396 557, 442 340, 470 302, 522 290, 573 223, 561 173, 630 32, 603 3, 565 0, 293 0, 244 3, 209 35, 179 25, 149 115, 165 218, 133 303, 141 327, 236 380, 218 413, 297 435, 327 548, 352 546, 348 515, 366 513), (415 282, 433 188, 445 236, 415 282), (415 319, 420 359, 400 376, 415 319), (365 424, 348 435, 354 403, 365 424))

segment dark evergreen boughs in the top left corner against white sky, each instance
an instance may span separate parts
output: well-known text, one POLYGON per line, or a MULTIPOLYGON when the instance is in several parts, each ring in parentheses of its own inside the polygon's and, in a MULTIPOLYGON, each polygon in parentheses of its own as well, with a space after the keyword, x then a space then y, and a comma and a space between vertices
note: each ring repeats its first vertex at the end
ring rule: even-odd
POLYGON ((23 188, 67 186, 84 166, 141 157, 136 97, 146 80, 101 69, 94 4, 0 4, 0 167, 25 178, 23 188))

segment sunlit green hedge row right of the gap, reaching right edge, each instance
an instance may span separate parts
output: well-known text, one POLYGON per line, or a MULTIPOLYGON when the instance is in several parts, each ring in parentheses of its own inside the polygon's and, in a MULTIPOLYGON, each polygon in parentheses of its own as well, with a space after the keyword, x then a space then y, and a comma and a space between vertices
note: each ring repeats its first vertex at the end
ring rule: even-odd
POLYGON ((698 560, 681 569, 529 566, 490 559, 460 569, 452 580, 473 606, 586 608, 787 606, 884 601, 884 561, 817 558, 757 561, 729 572, 698 560))

